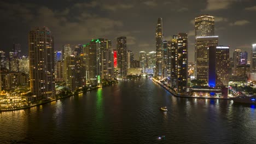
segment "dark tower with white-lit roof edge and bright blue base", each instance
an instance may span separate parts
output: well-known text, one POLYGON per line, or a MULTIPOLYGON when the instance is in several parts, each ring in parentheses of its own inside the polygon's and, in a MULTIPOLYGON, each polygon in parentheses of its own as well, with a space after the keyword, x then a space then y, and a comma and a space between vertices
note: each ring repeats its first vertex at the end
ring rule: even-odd
POLYGON ((209 47, 208 86, 228 87, 229 46, 209 47))

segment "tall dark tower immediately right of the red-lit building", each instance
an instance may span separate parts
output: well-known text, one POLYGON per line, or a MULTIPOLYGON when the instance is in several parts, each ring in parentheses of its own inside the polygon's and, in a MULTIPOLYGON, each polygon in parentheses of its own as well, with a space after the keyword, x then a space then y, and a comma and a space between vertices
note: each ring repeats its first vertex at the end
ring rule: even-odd
POLYGON ((117 61, 118 68, 120 69, 120 76, 126 77, 127 75, 127 48, 126 37, 117 38, 117 61))

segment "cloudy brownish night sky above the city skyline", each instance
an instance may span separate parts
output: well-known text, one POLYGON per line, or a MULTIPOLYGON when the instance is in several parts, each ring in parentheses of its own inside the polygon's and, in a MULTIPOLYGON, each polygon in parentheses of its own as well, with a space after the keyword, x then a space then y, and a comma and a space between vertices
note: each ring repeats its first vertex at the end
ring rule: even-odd
POLYGON ((0 50, 9 53, 20 43, 28 53, 27 37, 31 27, 46 26, 52 31, 55 49, 63 44, 85 44, 92 38, 127 37, 127 49, 138 57, 139 51, 155 51, 155 27, 162 17, 164 39, 185 32, 189 35, 189 61, 194 61, 194 18, 215 16, 219 45, 250 52, 256 43, 255 0, 129 0, 129 1, 0 1, 0 50))

